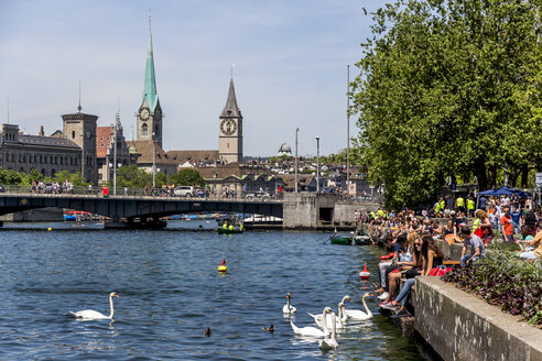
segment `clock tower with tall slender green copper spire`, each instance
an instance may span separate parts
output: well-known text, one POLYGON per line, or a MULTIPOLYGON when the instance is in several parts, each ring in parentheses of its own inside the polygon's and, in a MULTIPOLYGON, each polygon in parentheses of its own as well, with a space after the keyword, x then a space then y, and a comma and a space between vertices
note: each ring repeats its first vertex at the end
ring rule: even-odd
POLYGON ((138 113, 138 141, 154 141, 162 147, 162 108, 156 92, 152 53, 151 17, 149 15, 149 48, 147 51, 145 84, 138 113))

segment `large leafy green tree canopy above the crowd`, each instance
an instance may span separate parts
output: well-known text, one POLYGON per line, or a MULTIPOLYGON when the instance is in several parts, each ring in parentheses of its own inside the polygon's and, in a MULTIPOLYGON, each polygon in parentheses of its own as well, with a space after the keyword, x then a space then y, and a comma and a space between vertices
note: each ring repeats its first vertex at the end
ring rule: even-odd
POLYGON ((402 0, 372 13, 353 81, 357 162, 389 207, 449 182, 528 187, 542 169, 539 0, 402 0))

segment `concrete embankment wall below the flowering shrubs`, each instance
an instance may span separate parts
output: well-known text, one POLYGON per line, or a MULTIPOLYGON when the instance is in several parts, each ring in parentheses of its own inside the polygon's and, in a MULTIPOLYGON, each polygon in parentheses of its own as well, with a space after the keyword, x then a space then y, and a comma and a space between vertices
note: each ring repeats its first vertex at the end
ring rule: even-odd
POLYGON ((416 277, 414 329, 444 360, 542 361, 542 330, 437 277, 416 277))

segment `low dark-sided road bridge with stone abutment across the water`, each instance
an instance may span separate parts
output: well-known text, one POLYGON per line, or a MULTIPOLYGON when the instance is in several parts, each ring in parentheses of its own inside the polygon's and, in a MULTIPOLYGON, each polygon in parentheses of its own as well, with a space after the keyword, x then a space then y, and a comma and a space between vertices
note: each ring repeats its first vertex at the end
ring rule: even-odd
MULTIPOLYGON (((354 222, 355 210, 373 210, 378 204, 346 201, 332 194, 284 194, 284 199, 231 199, 144 195, 0 193, 0 215, 57 207, 122 219, 128 227, 153 227, 162 217, 182 214, 232 212, 283 219, 284 228, 316 229, 322 225, 354 222)), ((165 223, 163 223, 165 225, 165 223)))

